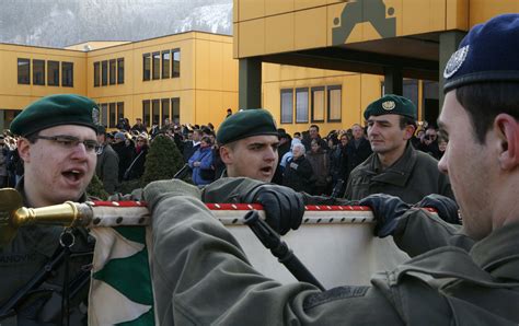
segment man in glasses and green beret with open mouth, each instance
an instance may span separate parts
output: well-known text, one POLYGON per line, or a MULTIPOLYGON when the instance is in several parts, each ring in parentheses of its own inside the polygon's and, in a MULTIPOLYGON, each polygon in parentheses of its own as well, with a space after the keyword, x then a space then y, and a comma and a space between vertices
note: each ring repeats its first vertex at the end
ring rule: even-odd
MULTIPOLYGON (((21 136, 18 151, 25 174, 16 189, 24 206, 37 208, 86 199, 85 189, 95 171, 97 117, 99 107, 93 101, 71 94, 41 98, 16 116, 11 130, 21 136)), ((1 311, 10 298, 22 294, 21 289, 35 275, 51 266, 50 261, 65 260, 49 268, 48 276, 28 289, 13 310, 4 311, 1 325, 61 325, 65 319, 71 325, 86 324, 84 304, 93 240, 83 229, 68 230, 66 235, 73 234, 74 242, 66 251, 60 245, 64 232, 62 226, 21 228, 0 249, 1 311), (64 290, 77 293, 62 298, 64 290), (61 311, 64 303, 69 307, 61 311)))

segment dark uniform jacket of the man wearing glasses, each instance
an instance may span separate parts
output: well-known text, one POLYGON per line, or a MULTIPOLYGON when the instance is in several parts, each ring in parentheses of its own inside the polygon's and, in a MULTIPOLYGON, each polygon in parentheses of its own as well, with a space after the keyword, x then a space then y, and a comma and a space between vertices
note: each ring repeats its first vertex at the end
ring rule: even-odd
MULTIPOLYGON (((16 190, 24 194, 23 177, 16 190)), ((83 195, 80 201, 84 201, 83 195)), ((24 202, 28 207, 28 202, 24 202)), ((45 265, 55 258, 62 248, 59 238, 64 226, 31 225, 20 228, 14 240, 0 248, 0 307, 20 291, 45 265)), ((94 238, 84 229, 78 229, 74 245, 70 248, 69 261, 61 261, 45 281, 32 289, 9 318, 0 318, 0 325, 59 325, 61 324, 61 293, 66 264, 68 264, 69 283, 79 278, 86 280, 83 287, 71 298, 70 323, 86 325, 86 295, 89 291, 90 264, 94 238)))

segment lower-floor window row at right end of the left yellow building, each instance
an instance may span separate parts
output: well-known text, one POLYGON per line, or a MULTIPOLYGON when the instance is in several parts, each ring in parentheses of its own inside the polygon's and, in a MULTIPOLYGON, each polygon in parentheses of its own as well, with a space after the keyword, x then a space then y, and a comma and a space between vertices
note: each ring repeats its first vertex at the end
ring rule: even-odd
POLYGON ((142 101, 142 124, 162 126, 165 119, 178 123, 181 118, 181 98, 159 98, 142 101))

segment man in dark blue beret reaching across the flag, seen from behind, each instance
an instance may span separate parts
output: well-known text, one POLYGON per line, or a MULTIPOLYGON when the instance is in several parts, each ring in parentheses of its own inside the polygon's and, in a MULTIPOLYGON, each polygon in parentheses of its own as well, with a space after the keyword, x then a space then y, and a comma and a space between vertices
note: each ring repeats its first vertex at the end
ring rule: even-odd
MULTIPOLYGON (((439 167, 451 176, 463 229, 389 195, 371 195, 361 202, 373 210, 377 234, 393 235, 414 256, 374 276, 370 287, 321 292, 303 282, 280 284, 255 271, 199 201, 212 186, 243 199, 254 197, 237 190, 247 181, 222 178, 204 191, 178 181, 150 184, 145 199, 153 213, 153 282, 161 324, 517 325, 517 39, 518 14, 474 26, 443 74, 439 125, 450 140, 439 167)), ((267 188, 250 187, 256 195, 272 194, 267 188)), ((297 194, 285 195, 288 200, 297 194)), ((288 208, 281 213, 289 212, 290 205, 281 202, 288 208)), ((291 218, 301 216, 280 219, 291 218)))

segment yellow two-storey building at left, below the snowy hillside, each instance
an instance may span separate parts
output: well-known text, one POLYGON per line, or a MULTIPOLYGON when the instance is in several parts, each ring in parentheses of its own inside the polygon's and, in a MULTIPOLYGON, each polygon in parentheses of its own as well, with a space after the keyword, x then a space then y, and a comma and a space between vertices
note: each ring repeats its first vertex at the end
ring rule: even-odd
POLYGON ((219 125, 238 107, 232 37, 188 32, 141 42, 89 42, 65 49, 0 44, 0 127, 41 96, 76 93, 101 105, 101 121, 147 126, 165 118, 219 125))

